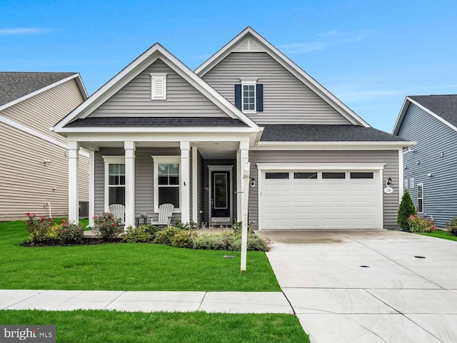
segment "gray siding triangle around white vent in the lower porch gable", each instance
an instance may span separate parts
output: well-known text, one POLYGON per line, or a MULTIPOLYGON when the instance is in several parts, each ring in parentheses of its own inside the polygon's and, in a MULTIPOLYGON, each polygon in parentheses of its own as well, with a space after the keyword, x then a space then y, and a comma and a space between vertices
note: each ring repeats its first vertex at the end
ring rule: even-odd
POLYGON ((89 117, 227 117, 160 59, 92 112, 89 117), (166 100, 151 100, 151 73, 166 73, 166 100))

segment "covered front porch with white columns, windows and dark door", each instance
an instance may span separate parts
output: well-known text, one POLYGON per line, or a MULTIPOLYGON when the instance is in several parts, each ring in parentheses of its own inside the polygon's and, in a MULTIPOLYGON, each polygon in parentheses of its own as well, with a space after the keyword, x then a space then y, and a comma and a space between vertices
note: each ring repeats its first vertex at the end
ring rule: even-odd
POLYGON ((125 206, 126 227, 135 226, 141 216, 156 216, 162 203, 174 205, 172 221, 231 225, 242 220, 243 208, 247 213, 248 206, 242 195, 249 135, 184 136, 69 135, 69 220, 79 219, 79 148, 90 152, 91 225, 92 217, 108 211, 113 203, 125 206))

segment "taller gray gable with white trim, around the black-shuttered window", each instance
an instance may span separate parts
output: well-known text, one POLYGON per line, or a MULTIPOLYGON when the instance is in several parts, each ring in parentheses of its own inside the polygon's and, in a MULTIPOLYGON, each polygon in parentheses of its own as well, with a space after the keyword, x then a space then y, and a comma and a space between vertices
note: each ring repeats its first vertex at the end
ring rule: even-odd
POLYGON ((246 114, 258 124, 370 127, 250 27, 199 66, 196 73, 232 103, 235 103, 234 84, 240 84, 241 78, 256 78, 263 85, 263 108, 246 114))

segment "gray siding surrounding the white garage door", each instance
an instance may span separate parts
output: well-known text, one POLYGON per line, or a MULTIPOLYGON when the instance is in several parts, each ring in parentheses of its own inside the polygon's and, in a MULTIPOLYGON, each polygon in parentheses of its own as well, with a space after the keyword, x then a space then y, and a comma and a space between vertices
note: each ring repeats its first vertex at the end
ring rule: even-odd
MULTIPOLYGON (((249 152, 251 177, 258 180, 256 163, 386 163, 383 179, 392 178, 393 193, 383 193, 384 228, 398 224, 398 150, 373 151, 253 151, 249 152)), ((383 182, 384 182, 383 180, 383 182)), ((258 225, 258 187, 249 188, 249 222, 258 225)))

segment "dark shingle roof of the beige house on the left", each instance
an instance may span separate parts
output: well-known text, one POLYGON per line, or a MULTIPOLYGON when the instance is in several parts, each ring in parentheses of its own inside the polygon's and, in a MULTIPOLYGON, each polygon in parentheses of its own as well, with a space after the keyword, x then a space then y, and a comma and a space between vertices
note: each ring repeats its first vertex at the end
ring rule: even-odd
POLYGON ((38 91, 75 73, 0 72, 0 106, 38 91))

